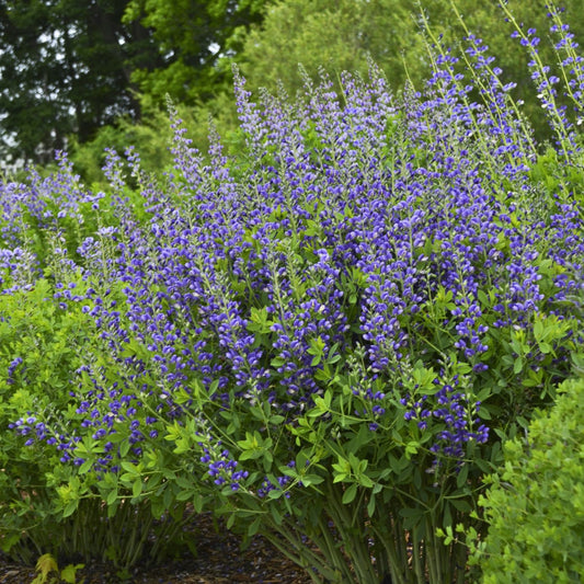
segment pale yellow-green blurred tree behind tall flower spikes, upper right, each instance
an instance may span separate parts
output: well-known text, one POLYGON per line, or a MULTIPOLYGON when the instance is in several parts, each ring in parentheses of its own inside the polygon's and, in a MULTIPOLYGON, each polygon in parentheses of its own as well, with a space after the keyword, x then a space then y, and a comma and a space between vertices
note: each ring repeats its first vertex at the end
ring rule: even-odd
MULTIPOLYGON (((490 55, 496 56, 494 65, 503 69, 503 80, 517 83, 514 98, 526 101, 525 112, 537 136, 547 139, 549 128, 533 91, 527 51, 511 38, 514 28, 497 0, 454 0, 454 4, 466 27, 489 45, 490 55)), ((545 0, 508 1, 519 23, 525 23, 526 30, 537 30, 540 57, 553 70, 558 57, 548 38, 551 22, 546 4, 545 0)), ((584 0, 564 0, 562 5, 575 39, 584 38, 584 21, 579 18, 584 0)), ((417 90, 424 90, 430 64, 420 34, 421 10, 434 33, 443 35, 445 45, 455 49, 463 45, 465 27, 450 0, 283 0, 270 7, 262 25, 251 31, 234 59, 250 88, 275 91, 279 80, 295 93, 301 88, 299 62, 311 76, 317 76, 321 66, 333 78, 345 69, 366 75, 369 54, 394 90, 408 78, 417 90)))

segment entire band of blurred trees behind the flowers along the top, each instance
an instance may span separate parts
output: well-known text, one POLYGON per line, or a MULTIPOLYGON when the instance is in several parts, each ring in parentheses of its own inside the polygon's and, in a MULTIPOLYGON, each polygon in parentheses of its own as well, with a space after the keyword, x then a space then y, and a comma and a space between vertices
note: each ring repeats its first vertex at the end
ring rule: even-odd
MULTIPOLYGON (((563 3, 577 41, 584 21, 573 15, 584 0, 563 3)), ((537 28, 540 57, 553 69, 542 0, 508 7, 537 28)), ((370 56, 394 91, 406 79, 423 90, 430 64, 421 9, 455 50, 463 50, 457 44, 465 27, 483 38, 504 79, 517 83, 515 99, 527 96, 525 112, 545 138, 529 59, 496 0, 0 0, 0 154, 46 162, 69 136, 84 144, 122 118, 127 128, 145 111, 152 117, 167 93, 193 110, 191 118, 231 118, 224 111, 233 61, 250 89, 274 91, 279 82, 294 93, 298 64, 335 79, 343 70, 366 75, 370 56)))

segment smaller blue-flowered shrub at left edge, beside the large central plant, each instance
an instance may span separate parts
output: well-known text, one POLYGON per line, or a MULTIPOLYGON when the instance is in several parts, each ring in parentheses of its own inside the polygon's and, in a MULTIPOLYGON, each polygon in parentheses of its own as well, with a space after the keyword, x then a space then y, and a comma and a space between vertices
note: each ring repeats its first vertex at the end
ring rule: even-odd
POLYGON ((27 184, 0 190, 0 549, 25 563, 48 551, 128 568, 174 553, 181 540, 184 503, 79 472, 70 456, 82 448, 71 426, 95 433, 87 408, 104 391, 99 381, 111 379, 110 391, 119 382, 89 306, 98 290, 115 297, 103 287, 110 236, 125 214, 141 216, 131 190, 106 176, 110 193, 94 195, 59 156, 51 174, 31 171, 27 184), (95 265, 101 275, 90 278, 95 265))

